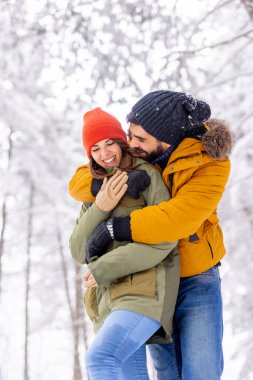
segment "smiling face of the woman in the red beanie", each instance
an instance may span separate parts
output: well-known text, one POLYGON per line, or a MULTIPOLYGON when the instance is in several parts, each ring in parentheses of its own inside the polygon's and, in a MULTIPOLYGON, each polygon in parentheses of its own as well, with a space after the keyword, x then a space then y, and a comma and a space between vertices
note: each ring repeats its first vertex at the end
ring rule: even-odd
POLYGON ((91 156, 103 168, 105 166, 120 166, 122 151, 118 143, 106 139, 93 145, 91 156))

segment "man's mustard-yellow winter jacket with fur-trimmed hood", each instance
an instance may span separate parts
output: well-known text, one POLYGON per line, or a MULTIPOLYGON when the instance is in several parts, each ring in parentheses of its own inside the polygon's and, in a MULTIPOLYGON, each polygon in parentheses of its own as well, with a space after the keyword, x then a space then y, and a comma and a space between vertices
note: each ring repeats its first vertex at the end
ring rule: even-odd
MULTIPOLYGON (((208 123, 208 129, 211 138, 186 138, 172 153, 162 173, 172 199, 130 215, 134 241, 179 240, 181 277, 206 271, 226 253, 217 207, 230 173, 224 151, 230 150, 232 140, 220 122, 208 123)), ((70 194, 81 201, 93 200, 90 184, 88 167, 82 166, 70 181, 70 194)))

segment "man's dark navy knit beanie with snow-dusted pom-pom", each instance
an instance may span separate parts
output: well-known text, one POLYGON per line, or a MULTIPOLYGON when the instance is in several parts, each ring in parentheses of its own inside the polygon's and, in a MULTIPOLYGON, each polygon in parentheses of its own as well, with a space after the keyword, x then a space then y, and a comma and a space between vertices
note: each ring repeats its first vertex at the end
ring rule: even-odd
POLYGON ((211 110, 207 103, 183 92, 154 91, 132 108, 128 120, 174 148, 185 137, 200 137, 211 110))

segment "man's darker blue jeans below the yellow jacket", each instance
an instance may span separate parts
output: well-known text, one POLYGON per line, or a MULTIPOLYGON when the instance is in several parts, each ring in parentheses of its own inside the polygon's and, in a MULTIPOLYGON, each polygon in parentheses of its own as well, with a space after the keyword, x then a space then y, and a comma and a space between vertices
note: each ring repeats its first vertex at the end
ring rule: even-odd
POLYGON ((150 345, 158 380, 219 380, 223 370, 218 267, 180 279, 174 341, 150 345))

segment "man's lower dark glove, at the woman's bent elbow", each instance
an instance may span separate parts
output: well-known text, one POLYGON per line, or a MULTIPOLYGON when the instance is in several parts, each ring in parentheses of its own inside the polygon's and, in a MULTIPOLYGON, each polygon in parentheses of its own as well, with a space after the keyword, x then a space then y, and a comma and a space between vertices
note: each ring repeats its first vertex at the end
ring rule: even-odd
POLYGON ((110 233, 110 230, 112 231, 111 221, 112 219, 108 219, 107 221, 99 224, 89 238, 86 249, 86 264, 89 264, 91 261, 98 259, 106 253, 108 244, 113 240, 113 233, 110 233))

